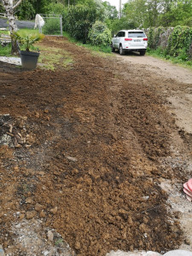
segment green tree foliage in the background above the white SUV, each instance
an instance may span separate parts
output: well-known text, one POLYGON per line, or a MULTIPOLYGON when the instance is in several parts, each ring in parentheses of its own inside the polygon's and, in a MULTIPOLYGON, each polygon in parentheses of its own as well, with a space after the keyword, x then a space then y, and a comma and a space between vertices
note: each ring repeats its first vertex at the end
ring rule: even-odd
POLYGON ((136 28, 191 26, 192 0, 129 0, 123 14, 136 28))

